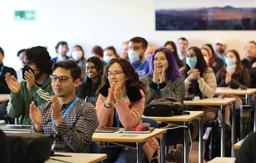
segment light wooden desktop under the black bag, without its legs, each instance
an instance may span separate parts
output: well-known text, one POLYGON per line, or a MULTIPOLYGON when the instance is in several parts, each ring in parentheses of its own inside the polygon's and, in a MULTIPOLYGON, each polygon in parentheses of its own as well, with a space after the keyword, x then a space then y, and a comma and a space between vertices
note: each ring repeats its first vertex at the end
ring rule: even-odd
POLYGON ((203 111, 187 111, 189 115, 174 115, 168 117, 152 117, 145 116, 145 118, 151 118, 156 121, 192 121, 195 118, 198 118, 203 115, 203 111))

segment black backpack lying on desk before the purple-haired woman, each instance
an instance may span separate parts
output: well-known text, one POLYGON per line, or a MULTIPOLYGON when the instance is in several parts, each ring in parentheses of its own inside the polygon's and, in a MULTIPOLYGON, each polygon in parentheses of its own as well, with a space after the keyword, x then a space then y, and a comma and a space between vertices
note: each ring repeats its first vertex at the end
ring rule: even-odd
POLYGON ((184 115, 184 103, 178 99, 168 97, 155 99, 146 105, 144 115, 146 116, 173 116, 184 115))

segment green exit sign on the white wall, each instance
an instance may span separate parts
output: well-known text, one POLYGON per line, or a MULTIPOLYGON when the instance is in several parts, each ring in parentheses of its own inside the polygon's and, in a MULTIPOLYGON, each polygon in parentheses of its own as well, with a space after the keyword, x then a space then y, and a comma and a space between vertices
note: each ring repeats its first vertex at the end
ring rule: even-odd
POLYGON ((36 17, 35 10, 16 10, 14 12, 14 20, 35 21, 36 17))

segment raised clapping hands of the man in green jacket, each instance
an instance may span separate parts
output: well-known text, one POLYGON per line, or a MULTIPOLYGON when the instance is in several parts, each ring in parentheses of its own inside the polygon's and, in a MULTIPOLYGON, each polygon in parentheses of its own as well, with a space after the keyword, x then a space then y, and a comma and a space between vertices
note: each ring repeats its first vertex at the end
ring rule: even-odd
MULTIPOLYGON (((31 88, 34 87, 35 83, 35 77, 34 73, 29 70, 29 72, 25 72, 25 79, 26 79, 26 88, 31 90, 31 88)), ((15 78, 15 76, 11 75, 9 72, 5 75, 5 81, 7 83, 7 86, 10 88, 10 90, 17 94, 20 92, 20 83, 15 78)))

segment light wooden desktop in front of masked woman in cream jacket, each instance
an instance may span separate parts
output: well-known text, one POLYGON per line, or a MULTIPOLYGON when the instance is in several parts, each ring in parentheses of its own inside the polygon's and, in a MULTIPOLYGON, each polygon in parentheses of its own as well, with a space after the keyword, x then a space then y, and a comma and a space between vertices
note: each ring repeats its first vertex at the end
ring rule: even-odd
POLYGON ((208 105, 208 106, 220 106, 220 105, 228 105, 232 102, 235 102, 236 98, 211 98, 211 99, 199 99, 197 101, 195 100, 189 100, 189 101, 184 101, 185 105, 191 105, 191 106, 203 106, 203 105, 208 105))

